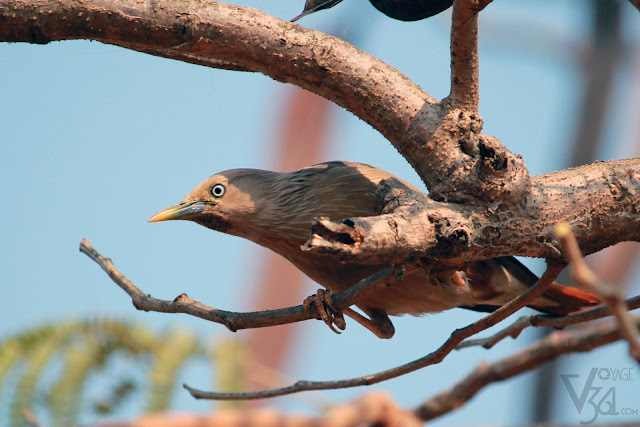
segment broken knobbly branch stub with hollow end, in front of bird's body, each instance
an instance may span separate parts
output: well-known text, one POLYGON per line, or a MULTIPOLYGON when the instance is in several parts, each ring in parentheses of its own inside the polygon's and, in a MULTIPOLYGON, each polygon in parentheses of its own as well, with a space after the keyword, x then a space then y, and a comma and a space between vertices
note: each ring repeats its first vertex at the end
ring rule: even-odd
POLYGON ((379 215, 316 219, 302 249, 357 264, 397 264, 425 256, 447 267, 467 262, 466 253, 478 237, 473 208, 434 201, 397 179, 381 181, 375 195, 379 215))

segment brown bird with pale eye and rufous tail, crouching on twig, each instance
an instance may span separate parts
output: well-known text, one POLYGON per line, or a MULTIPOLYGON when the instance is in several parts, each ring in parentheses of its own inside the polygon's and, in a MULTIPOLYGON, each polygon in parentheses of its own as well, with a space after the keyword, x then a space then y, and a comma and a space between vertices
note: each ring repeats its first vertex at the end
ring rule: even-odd
MULTIPOLYGON (((456 307, 491 312, 511 301, 538 277, 514 257, 477 261, 451 280, 433 280, 427 269, 415 269, 392 286, 364 297, 342 312, 331 304, 331 294, 353 286, 387 267, 341 262, 303 250, 315 218, 338 221, 381 213, 376 188, 383 180, 406 190, 418 188, 375 166, 332 161, 291 172, 231 169, 210 176, 182 201, 164 209, 149 222, 188 220, 206 228, 251 240, 268 248, 324 286, 304 301, 315 304, 320 317, 333 329, 344 329, 342 314, 356 320, 380 338, 395 332, 389 316, 423 315, 456 307)), ((566 315, 599 304, 587 291, 553 283, 529 307, 566 315)))

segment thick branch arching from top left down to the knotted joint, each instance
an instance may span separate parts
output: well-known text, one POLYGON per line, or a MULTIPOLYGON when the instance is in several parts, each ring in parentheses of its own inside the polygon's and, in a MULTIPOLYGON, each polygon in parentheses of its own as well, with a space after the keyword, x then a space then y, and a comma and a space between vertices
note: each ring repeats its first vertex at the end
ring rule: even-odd
POLYGON ((434 196, 518 200, 528 183, 522 160, 479 134, 477 114, 444 109, 349 43, 256 9, 205 0, 0 0, 0 20, 0 41, 92 39, 296 84, 380 131, 434 196), (499 167, 487 153, 500 159, 499 167))

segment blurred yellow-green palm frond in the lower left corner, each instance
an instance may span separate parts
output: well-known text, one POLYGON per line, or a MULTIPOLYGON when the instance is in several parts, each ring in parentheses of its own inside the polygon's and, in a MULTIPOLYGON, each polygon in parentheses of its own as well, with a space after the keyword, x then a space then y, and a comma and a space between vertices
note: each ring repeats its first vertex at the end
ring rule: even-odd
MULTIPOLYGON (((25 409, 46 414, 43 424, 51 426, 77 424, 81 414, 116 412, 124 401, 138 402, 141 411, 166 410, 180 370, 198 358, 211 361, 203 348, 184 330, 155 333, 113 319, 49 322, 7 337, 0 341, 0 408, 9 410, 0 410, 0 425, 28 425, 25 409)), ((233 367, 238 354, 215 357, 219 378, 241 383, 242 373, 233 367)))

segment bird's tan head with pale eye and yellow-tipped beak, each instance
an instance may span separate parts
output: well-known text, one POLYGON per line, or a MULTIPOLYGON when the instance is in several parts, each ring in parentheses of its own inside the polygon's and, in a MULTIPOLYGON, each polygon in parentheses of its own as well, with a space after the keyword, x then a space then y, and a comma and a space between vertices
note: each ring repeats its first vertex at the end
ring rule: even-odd
POLYGON ((264 209, 273 172, 233 169, 210 176, 173 206, 149 219, 149 222, 183 219, 212 230, 243 235, 247 225, 256 221, 264 209))

